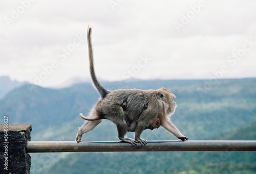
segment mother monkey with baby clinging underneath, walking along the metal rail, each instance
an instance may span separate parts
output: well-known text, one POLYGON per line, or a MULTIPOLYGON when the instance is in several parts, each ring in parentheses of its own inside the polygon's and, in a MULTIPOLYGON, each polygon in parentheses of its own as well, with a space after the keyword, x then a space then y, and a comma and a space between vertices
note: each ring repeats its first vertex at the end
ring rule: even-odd
POLYGON ((79 128, 76 141, 80 142, 82 135, 92 131, 102 119, 113 121, 118 130, 118 138, 132 145, 146 145, 140 138, 145 129, 164 127, 175 137, 187 140, 188 137, 175 127, 169 116, 174 114, 176 95, 165 88, 157 90, 118 89, 107 90, 98 81, 94 71, 94 58, 92 46, 92 27, 87 32, 90 72, 93 84, 100 94, 100 98, 88 117, 80 114, 86 122, 79 128), (127 131, 135 132, 134 139, 125 137, 127 131))

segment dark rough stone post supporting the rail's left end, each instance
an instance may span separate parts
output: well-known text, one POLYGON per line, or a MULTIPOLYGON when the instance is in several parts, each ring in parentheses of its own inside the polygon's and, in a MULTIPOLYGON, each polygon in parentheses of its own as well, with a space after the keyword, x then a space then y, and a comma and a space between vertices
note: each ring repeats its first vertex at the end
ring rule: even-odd
POLYGON ((31 125, 0 125, 1 173, 30 173, 31 157, 26 153, 31 125))

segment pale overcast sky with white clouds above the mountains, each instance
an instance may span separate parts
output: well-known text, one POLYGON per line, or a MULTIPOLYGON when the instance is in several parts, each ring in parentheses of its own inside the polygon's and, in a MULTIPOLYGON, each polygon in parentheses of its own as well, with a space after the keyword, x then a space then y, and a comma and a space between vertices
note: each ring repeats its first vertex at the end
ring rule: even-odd
POLYGON ((0 1, 0 76, 40 86, 256 77, 256 1, 0 1))

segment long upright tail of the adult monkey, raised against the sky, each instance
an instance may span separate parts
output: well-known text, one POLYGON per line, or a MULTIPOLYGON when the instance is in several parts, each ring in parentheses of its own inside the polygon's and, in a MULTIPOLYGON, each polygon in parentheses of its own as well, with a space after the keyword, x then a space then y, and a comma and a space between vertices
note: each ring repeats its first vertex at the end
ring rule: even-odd
POLYGON ((87 41, 88 41, 88 49, 89 49, 89 61, 90 61, 90 73, 93 84, 95 88, 98 90, 100 96, 104 98, 106 94, 109 93, 98 81, 95 71, 94 71, 94 58, 93 58, 93 45, 92 45, 92 27, 88 26, 87 31, 87 41))

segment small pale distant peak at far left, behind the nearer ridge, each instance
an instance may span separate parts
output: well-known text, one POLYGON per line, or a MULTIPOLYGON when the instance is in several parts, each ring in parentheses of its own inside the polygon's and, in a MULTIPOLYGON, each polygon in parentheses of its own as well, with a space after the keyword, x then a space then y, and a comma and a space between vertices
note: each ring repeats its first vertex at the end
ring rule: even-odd
POLYGON ((24 82, 12 81, 8 76, 0 77, 0 99, 9 91, 21 85, 24 85, 24 82))

